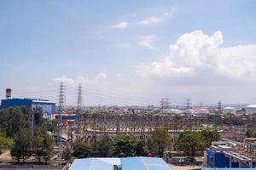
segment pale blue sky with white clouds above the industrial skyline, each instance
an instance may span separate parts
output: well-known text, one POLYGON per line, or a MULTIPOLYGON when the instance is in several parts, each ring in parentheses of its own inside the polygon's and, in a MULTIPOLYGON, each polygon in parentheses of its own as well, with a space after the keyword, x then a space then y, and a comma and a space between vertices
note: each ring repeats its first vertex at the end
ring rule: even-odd
POLYGON ((254 0, 2 0, 0 98, 255 104, 254 0))

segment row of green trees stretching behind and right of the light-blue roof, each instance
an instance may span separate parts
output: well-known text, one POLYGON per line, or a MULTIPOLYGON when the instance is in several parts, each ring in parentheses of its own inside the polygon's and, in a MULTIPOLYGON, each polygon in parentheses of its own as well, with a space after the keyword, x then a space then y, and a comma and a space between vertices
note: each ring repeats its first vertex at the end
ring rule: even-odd
POLYGON ((127 156, 159 156, 163 157, 167 150, 183 151, 186 156, 195 157, 198 151, 202 151, 212 144, 212 141, 220 139, 216 130, 205 129, 201 132, 186 131, 180 133, 175 142, 166 129, 158 128, 150 133, 148 139, 137 139, 131 134, 115 136, 108 135, 96 138, 91 143, 76 140, 73 150, 67 148, 63 152, 63 158, 67 161, 72 157, 127 157, 127 156))

